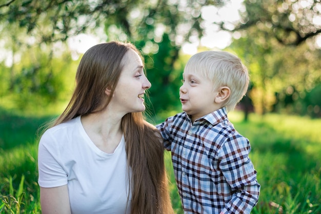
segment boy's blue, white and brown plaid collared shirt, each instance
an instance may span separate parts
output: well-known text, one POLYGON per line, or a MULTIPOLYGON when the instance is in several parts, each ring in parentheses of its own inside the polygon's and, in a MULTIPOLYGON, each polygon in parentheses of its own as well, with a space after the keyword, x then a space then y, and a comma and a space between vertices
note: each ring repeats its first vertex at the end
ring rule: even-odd
POLYGON ((226 108, 191 123, 178 113, 157 125, 171 151, 185 213, 250 213, 260 185, 248 139, 229 122, 226 108))

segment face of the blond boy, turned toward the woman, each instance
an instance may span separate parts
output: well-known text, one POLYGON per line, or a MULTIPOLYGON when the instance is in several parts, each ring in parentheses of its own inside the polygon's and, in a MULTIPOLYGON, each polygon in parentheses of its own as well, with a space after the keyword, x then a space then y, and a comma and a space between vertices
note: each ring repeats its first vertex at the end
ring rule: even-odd
POLYGON ((193 122, 222 107, 221 104, 215 103, 218 91, 213 88, 213 83, 206 77, 184 71, 179 99, 183 111, 191 115, 193 122))

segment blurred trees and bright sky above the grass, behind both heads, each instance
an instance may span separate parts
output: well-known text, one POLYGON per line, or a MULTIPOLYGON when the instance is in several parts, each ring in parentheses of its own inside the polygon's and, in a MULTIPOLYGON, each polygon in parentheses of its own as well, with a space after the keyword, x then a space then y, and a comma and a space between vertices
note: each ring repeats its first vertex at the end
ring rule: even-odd
POLYGON ((82 54, 117 40, 145 55, 152 114, 180 108, 191 54, 223 49, 251 75, 240 109, 321 116, 320 1, 0 2, 1 108, 64 106, 82 54))

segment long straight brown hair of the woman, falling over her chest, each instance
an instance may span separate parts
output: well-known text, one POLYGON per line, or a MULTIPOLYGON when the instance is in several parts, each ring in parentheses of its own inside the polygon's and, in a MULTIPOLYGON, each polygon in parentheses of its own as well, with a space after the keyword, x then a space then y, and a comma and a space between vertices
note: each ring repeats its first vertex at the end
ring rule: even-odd
MULTIPOLYGON (((72 98, 53 126, 105 109, 111 96, 105 96, 104 92, 107 87, 111 88, 111 94, 114 92, 122 72, 123 57, 129 49, 136 51, 143 60, 131 43, 104 43, 86 51, 77 69, 72 98)), ((130 213, 173 213, 159 132, 146 123, 142 112, 127 113, 122 119, 122 128, 128 171, 131 171, 130 213)))

